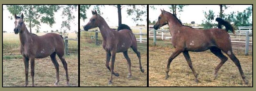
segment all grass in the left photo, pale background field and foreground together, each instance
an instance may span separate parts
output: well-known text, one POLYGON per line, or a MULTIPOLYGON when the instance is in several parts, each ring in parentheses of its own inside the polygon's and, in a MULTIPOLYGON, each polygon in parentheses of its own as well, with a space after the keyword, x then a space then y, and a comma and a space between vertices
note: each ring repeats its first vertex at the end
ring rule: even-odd
MULTIPOLYGON (((37 33, 41 36, 45 33, 37 33)), ((69 33, 69 38, 76 38, 75 33, 69 33)), ((69 41, 70 46, 77 41, 69 41)), ((73 45, 77 47, 77 45, 73 45)), ((3 86, 24 86, 25 84, 25 66, 22 55, 19 55, 20 40, 19 36, 14 33, 3 33, 3 86), (18 55, 10 55, 18 54, 18 55)), ((78 49, 76 49, 78 51, 78 49)), ((74 51, 74 50, 73 50, 74 51)), ((68 63, 68 73, 71 86, 78 86, 78 53, 65 55, 68 63)), ((59 63, 59 86, 66 86, 66 73, 63 64, 57 57, 59 63)), ((56 70, 50 57, 43 59, 35 59, 35 76, 34 82, 36 86, 54 86, 56 80, 56 70)), ((29 64, 29 85, 31 85, 30 64, 29 64)))

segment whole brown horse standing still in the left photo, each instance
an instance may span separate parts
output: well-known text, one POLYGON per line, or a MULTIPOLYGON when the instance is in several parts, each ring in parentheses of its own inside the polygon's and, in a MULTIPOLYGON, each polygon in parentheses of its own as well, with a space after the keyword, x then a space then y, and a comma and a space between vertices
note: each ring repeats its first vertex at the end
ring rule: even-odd
POLYGON ((68 79, 68 64, 64 58, 64 42, 62 36, 56 33, 47 33, 43 36, 37 36, 35 34, 29 33, 25 22, 23 21, 23 13, 21 17, 15 14, 15 28, 14 33, 20 36, 20 53, 23 55, 23 61, 25 64, 25 74, 26 82, 25 86, 28 84, 28 68, 29 60, 31 64, 31 76, 32 76, 32 86, 34 85, 34 65, 35 58, 45 58, 50 55, 52 63, 56 69, 56 82, 54 85, 58 85, 59 82, 59 64, 56 60, 56 54, 59 56, 63 67, 66 71, 67 85, 69 85, 68 79))

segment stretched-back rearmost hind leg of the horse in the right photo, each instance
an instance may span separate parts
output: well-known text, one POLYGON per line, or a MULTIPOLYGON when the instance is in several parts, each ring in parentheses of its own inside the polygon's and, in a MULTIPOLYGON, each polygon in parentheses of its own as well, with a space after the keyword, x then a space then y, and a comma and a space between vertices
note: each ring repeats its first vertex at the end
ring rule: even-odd
POLYGON ((248 80, 246 80, 245 78, 245 74, 244 72, 242 71, 242 67, 240 65, 240 62, 239 60, 236 58, 236 56, 233 54, 233 51, 232 50, 229 50, 229 51, 226 51, 225 52, 229 58, 236 64, 236 66, 238 67, 238 70, 240 72, 240 75, 242 76, 242 80, 244 80, 245 84, 248 84, 248 80))

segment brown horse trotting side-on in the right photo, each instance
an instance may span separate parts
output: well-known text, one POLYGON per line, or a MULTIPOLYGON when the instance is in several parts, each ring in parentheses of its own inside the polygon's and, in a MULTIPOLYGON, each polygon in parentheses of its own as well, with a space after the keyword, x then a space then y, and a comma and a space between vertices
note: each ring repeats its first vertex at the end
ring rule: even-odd
MULTIPOLYGON (((168 59, 168 64, 166 67, 166 75, 165 79, 169 77, 168 72, 170 70, 170 63, 172 60, 177 57, 180 53, 186 58, 190 69, 192 70, 195 76, 195 82, 198 82, 197 73, 193 68, 192 62, 190 60, 190 56, 188 51, 206 51, 208 49, 211 50, 213 54, 215 54, 218 58, 220 58, 221 62, 217 65, 214 71, 214 76, 217 78, 217 72, 220 67, 228 60, 228 58, 223 55, 221 51, 226 53, 229 58, 236 64, 238 67, 240 74, 242 76, 245 84, 248 84, 248 81, 245 79, 245 74, 242 71, 239 60, 232 52, 231 47, 231 38, 229 34, 224 29, 205 29, 199 30, 194 29, 192 27, 184 26, 182 23, 174 16, 172 13, 161 10, 161 14, 158 18, 158 21, 154 25, 154 29, 159 29, 160 27, 168 24, 170 33, 172 35, 172 44, 175 48, 175 51, 172 53, 170 58, 168 59)), ((227 24, 224 24, 227 27, 227 24)), ((229 24, 230 25, 230 24, 229 24)), ((231 27, 231 26, 229 26, 231 27)), ((228 29, 228 28, 226 28, 228 29)), ((231 29, 231 31, 234 31, 231 29)), ((234 32, 233 32, 234 33, 234 32)))

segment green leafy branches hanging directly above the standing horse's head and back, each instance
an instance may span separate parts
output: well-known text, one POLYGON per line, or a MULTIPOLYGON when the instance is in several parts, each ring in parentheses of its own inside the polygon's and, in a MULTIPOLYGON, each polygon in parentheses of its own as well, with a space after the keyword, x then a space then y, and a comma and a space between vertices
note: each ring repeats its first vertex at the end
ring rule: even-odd
MULTIPOLYGON (((59 10, 59 5, 7 5, 7 10, 14 15, 23 13, 25 15, 24 21, 28 22, 30 33, 31 28, 36 27, 36 32, 39 32, 41 23, 45 23, 52 27, 54 21, 54 12, 59 10), (40 22, 39 22, 40 20, 40 22)), ((13 19, 10 16, 9 18, 13 19)))

